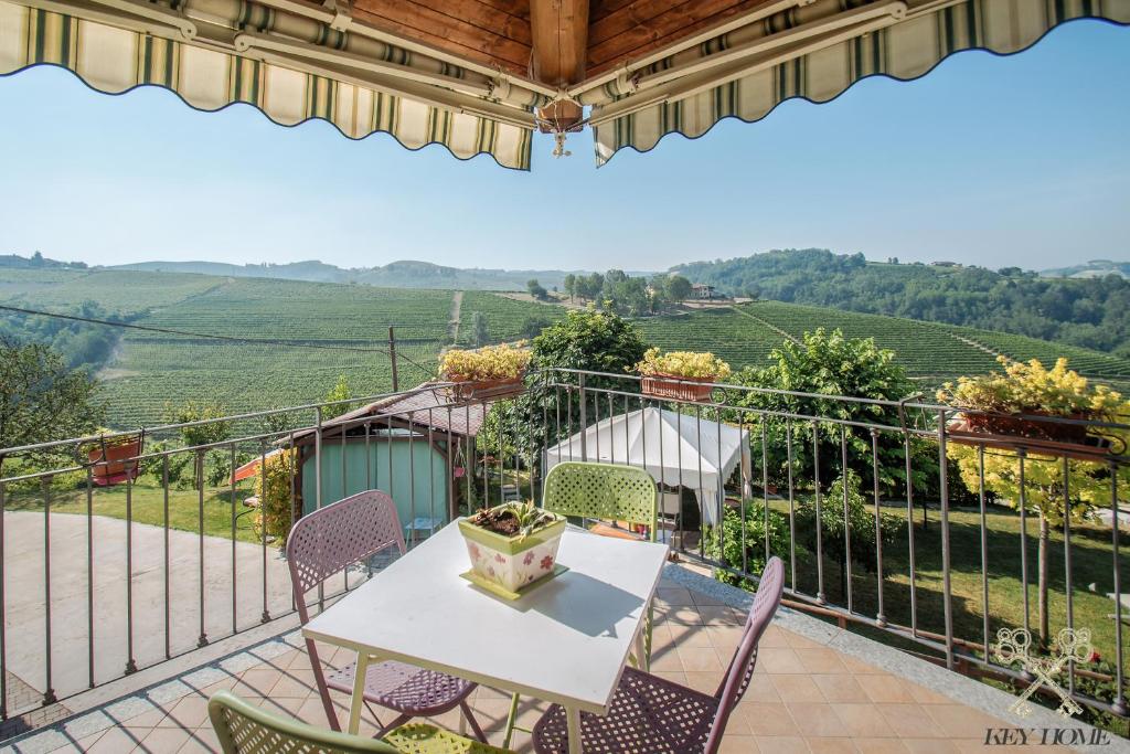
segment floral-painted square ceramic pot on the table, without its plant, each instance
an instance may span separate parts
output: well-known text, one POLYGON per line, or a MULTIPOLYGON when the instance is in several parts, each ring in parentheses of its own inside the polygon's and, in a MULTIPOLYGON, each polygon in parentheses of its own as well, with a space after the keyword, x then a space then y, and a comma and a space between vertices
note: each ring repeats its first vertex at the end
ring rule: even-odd
POLYGON ((525 537, 505 537, 475 526, 467 519, 459 521, 459 531, 467 543, 471 571, 484 581, 516 592, 554 572, 557 547, 565 532, 565 518, 542 527, 525 537))

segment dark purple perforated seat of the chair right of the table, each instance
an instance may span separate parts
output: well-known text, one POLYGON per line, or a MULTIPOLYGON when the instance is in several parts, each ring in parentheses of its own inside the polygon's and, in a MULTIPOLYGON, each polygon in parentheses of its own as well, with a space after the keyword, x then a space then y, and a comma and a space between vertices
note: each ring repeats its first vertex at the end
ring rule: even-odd
MULTIPOLYGON (((701 753, 718 705, 713 696, 625 668, 608 714, 581 713, 583 749, 601 754, 701 753)), ((568 752, 568 723, 559 704, 550 707, 533 727, 533 748, 539 754, 568 752)))

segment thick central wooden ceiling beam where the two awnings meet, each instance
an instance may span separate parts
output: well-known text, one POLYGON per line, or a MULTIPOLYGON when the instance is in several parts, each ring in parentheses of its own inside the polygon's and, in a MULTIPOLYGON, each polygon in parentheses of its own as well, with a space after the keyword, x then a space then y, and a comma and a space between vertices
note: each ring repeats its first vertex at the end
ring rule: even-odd
POLYGON ((530 0, 531 76, 547 86, 584 79, 589 49, 589 0, 530 0))

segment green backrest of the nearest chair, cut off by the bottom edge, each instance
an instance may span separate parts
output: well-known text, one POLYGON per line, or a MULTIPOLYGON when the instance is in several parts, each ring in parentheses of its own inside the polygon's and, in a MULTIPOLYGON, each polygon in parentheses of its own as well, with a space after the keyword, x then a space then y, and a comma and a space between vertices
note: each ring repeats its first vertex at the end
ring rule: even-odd
POLYGON ((208 700, 224 754, 398 754, 382 740, 315 728, 249 704, 229 691, 208 700))

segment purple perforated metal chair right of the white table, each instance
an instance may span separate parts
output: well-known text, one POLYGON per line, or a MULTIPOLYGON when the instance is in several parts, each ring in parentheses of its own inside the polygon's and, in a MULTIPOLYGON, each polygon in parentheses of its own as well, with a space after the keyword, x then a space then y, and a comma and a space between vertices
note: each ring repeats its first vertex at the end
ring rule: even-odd
MULTIPOLYGON (((583 751, 715 754, 730 713, 754 676, 757 642, 781 605, 783 574, 781 558, 771 558, 762 573, 741 641, 713 696, 624 668, 608 714, 581 713, 583 751)), ((538 754, 568 751, 568 727, 560 705, 554 704, 533 726, 533 748, 538 754)))

